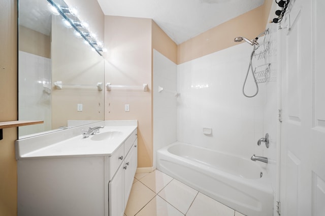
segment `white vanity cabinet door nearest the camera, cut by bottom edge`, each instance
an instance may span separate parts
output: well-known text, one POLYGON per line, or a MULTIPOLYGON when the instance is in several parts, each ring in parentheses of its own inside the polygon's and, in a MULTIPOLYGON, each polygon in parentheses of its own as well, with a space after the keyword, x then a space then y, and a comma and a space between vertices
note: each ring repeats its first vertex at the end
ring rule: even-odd
POLYGON ((123 164, 117 169, 117 172, 110 181, 109 187, 109 216, 123 216, 124 214, 124 169, 123 164))

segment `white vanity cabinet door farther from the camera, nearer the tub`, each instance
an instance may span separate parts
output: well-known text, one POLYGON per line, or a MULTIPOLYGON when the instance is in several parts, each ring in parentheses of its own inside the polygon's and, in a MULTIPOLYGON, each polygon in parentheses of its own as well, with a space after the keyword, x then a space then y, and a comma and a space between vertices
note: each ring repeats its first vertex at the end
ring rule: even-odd
MULTIPOLYGON (((135 143, 137 140, 135 141, 135 143)), ((124 160, 124 208, 126 207, 128 196, 131 192, 134 176, 137 170, 137 145, 133 145, 124 160)))

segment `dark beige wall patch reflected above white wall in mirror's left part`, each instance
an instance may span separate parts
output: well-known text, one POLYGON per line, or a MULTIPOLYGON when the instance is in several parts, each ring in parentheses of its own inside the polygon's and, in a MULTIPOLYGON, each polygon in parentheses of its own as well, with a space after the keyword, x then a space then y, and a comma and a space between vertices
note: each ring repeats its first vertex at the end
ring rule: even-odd
POLYGON ((19 26, 19 50, 45 58, 51 58, 51 39, 49 35, 19 26))

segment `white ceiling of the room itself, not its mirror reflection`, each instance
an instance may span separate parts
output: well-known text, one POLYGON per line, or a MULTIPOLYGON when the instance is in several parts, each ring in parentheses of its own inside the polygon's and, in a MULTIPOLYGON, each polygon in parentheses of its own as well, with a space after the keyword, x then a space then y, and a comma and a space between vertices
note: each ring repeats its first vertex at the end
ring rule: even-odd
POLYGON ((264 0, 98 0, 105 15, 153 19, 176 44, 244 14, 264 0))

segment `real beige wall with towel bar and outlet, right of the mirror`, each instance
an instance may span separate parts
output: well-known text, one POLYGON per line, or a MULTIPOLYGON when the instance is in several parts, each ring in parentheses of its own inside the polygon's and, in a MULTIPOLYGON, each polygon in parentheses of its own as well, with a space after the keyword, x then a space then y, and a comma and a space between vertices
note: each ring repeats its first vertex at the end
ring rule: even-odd
POLYGON ((105 92, 105 120, 138 119, 138 167, 152 166, 151 19, 105 17, 105 82, 148 84, 149 91, 105 92), (129 112, 124 105, 129 104, 129 112))

